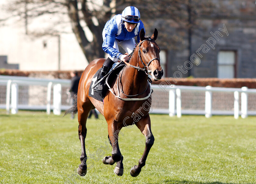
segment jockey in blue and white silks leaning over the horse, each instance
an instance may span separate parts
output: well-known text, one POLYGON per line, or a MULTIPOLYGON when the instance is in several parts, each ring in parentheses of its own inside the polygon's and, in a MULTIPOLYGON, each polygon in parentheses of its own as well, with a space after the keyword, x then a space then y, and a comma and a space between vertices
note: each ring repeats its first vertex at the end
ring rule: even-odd
MULTIPOLYGON (((144 24, 140 20, 140 12, 134 6, 126 7, 122 14, 115 15, 106 23, 102 32, 102 49, 108 54, 108 58, 103 63, 98 81, 108 73, 118 59, 121 61, 129 60, 126 54, 119 52, 118 46, 130 54, 136 47, 134 37, 137 36, 137 42, 140 42, 139 33, 142 28, 144 28, 144 24)), ((103 82, 100 82, 96 89, 102 90, 99 87, 102 84, 103 82)))

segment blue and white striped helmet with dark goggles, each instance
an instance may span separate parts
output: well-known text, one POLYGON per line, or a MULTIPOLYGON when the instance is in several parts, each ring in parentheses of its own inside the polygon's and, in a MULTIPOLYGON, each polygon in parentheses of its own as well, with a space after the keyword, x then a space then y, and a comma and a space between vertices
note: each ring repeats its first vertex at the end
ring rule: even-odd
POLYGON ((122 12, 122 20, 129 23, 138 23, 140 21, 140 12, 134 6, 126 7, 122 12))

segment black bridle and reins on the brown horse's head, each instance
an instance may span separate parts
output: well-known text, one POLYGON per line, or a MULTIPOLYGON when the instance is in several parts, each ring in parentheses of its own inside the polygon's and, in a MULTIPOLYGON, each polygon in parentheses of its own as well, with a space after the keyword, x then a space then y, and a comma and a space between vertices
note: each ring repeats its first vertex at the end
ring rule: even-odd
MULTIPOLYGON (((141 41, 140 44, 139 44, 138 59, 137 59, 137 61, 138 61, 138 65, 139 65, 139 61, 140 61, 140 62, 143 64, 144 68, 140 68, 140 65, 137 66, 137 67, 136 67, 136 66, 133 66, 133 65, 131 65, 131 64, 125 62, 125 61, 124 61, 124 63, 127 64, 127 65, 130 66, 130 67, 136 68, 137 70, 145 71, 146 75, 150 74, 152 71, 149 70, 148 66, 149 66, 149 65, 151 64, 151 62, 154 61, 154 60, 158 60, 158 61, 160 62, 160 59, 156 57, 156 58, 151 59, 151 60, 147 63, 147 61, 146 61, 145 58, 143 57, 143 54, 141 54, 140 47, 141 47, 141 45, 142 45, 142 43, 143 43, 144 41, 151 41, 151 40, 154 40, 154 39, 151 39, 151 37, 148 37, 147 39, 141 41), (144 62, 142 61, 142 58, 143 58, 143 60, 145 61, 145 63, 146 63, 147 65, 144 64, 144 62)), ((134 50, 135 50, 135 49, 134 49, 134 50)), ((134 50, 133 50, 133 52, 134 52, 134 50)), ((132 56, 132 55, 133 55, 133 52, 132 52, 131 54, 129 54, 128 56, 132 56)))

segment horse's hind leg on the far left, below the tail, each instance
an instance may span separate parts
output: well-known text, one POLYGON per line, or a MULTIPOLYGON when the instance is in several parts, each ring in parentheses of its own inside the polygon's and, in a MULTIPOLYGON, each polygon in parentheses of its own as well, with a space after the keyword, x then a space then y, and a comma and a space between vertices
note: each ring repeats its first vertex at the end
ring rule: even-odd
POLYGON ((78 123, 79 123, 78 135, 79 135, 79 139, 81 142, 81 149, 82 149, 81 156, 80 156, 81 164, 77 168, 77 172, 81 176, 86 175, 86 172, 87 172, 87 165, 86 165, 87 155, 85 152, 85 137, 87 133, 86 121, 92 106, 93 105, 89 101, 89 99, 87 99, 86 102, 77 103, 77 109, 78 109, 77 116, 78 116, 78 123))

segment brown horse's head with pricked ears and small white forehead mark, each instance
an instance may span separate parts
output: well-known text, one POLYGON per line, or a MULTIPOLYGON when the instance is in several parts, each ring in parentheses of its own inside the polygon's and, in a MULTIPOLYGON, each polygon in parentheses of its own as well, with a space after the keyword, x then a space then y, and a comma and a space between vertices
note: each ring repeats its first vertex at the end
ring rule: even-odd
POLYGON ((163 76, 163 69, 160 65, 160 48, 155 40, 157 39, 158 31, 155 29, 151 37, 145 37, 144 29, 140 31, 139 57, 144 65, 144 68, 152 76, 154 81, 157 81, 163 76))

